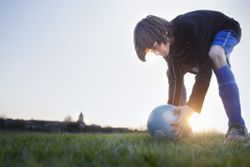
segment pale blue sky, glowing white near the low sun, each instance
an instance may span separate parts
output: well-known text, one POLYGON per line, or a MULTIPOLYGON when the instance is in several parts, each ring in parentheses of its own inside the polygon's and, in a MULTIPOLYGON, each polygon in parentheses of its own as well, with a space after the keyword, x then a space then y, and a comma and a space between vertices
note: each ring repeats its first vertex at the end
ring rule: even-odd
MULTIPOLYGON (((133 30, 147 15, 172 20, 210 9, 238 20, 242 40, 231 55, 242 115, 250 128, 248 0, 0 0, 0 116, 145 128, 150 112, 167 103, 167 64, 156 56, 141 62, 133 30)), ((185 76, 190 94, 193 75, 185 76)), ((227 130, 213 75, 195 131, 227 130)))

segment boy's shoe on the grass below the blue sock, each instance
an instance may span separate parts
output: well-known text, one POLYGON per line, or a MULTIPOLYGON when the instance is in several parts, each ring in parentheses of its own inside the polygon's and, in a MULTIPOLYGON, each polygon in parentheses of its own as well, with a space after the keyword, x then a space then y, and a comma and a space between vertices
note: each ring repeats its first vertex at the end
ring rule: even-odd
POLYGON ((227 130, 227 141, 242 141, 248 138, 248 131, 245 126, 233 126, 227 130))

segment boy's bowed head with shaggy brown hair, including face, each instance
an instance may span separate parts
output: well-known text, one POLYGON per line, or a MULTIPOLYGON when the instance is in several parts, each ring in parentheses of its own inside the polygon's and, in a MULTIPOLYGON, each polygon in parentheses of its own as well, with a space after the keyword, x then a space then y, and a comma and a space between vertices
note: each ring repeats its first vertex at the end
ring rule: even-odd
POLYGON ((146 61, 147 52, 157 44, 164 43, 173 38, 173 28, 167 20, 149 15, 137 23, 134 29, 134 45, 140 60, 146 61))

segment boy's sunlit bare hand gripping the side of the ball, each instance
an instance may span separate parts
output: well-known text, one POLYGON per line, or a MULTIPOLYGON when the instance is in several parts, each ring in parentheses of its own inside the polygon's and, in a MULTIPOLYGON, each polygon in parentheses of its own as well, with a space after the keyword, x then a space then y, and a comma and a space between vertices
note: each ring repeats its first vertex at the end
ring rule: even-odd
POLYGON ((172 124, 173 131, 177 138, 180 138, 186 133, 191 131, 189 126, 189 118, 192 116, 194 110, 188 105, 177 106, 174 111, 174 115, 179 115, 175 123, 172 124))

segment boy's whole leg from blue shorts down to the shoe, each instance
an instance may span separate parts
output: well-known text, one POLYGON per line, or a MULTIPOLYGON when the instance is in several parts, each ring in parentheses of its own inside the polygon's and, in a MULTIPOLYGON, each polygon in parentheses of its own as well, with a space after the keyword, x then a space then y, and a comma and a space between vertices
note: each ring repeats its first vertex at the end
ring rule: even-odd
MULTIPOLYGON (((229 35, 227 35, 226 37, 230 37, 229 35)), ((229 140, 238 140, 241 138, 245 138, 247 136, 247 131, 245 128, 244 120, 241 116, 241 105, 238 86, 235 82, 234 75, 227 63, 228 61, 226 55, 232 51, 233 47, 237 44, 237 41, 233 41, 234 45, 232 45, 231 43, 229 48, 226 48, 226 41, 223 41, 223 35, 219 35, 219 38, 216 37, 215 42, 210 48, 209 56, 215 66, 214 72, 216 74, 216 78, 219 85, 220 97, 222 99, 224 108, 229 119, 229 131, 227 134, 227 138, 229 140)), ((228 40, 227 38, 225 40, 228 40)))

